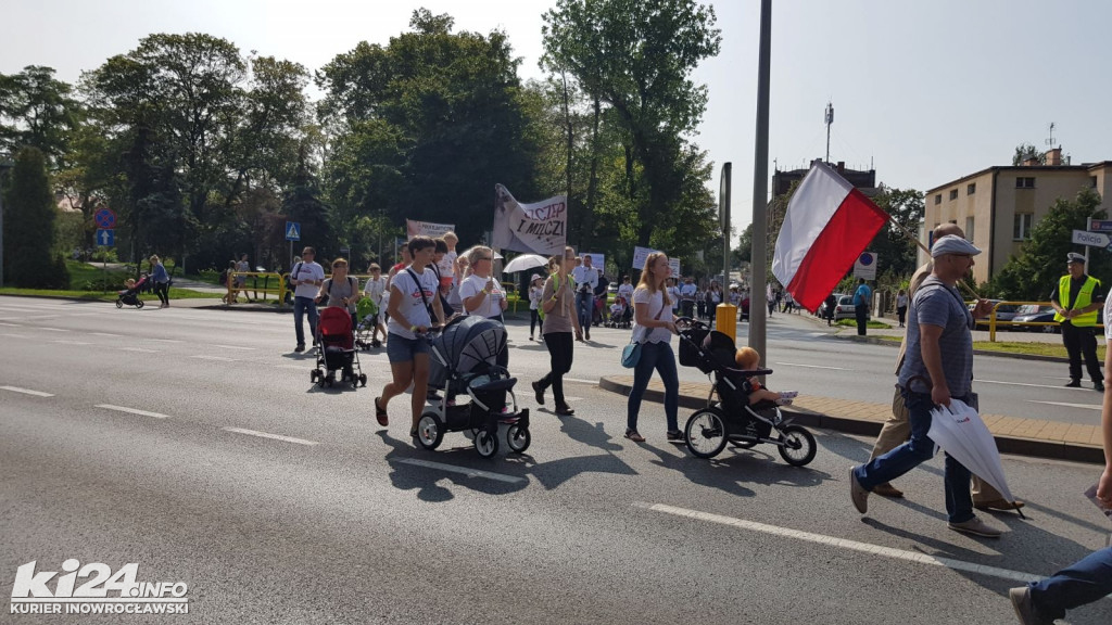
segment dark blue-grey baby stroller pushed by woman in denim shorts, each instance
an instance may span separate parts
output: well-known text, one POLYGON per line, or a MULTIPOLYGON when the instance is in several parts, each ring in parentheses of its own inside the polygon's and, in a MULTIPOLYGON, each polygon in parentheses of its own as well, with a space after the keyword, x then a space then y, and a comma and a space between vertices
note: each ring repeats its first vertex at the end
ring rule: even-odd
POLYGON ((498 429, 504 425, 506 445, 515 454, 524 453, 532 440, 529 409, 517 409, 517 378, 497 365, 498 354, 506 349, 506 328, 483 317, 456 317, 429 343, 428 386, 439 396, 430 398, 417 423, 421 447, 436 449, 446 431, 467 431, 475 438, 475 450, 490 458, 498 453, 498 429), (468 400, 457 404, 464 395, 468 400))

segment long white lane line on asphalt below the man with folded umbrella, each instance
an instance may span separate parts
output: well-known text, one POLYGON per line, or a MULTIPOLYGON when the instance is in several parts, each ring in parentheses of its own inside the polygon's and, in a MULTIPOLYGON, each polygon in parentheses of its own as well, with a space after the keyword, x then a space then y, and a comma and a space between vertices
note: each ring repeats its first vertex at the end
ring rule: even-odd
POLYGON ((1002 579, 1011 579, 1014 582, 1031 582, 1032 579, 1041 579, 1043 577, 1042 575, 1035 575, 1033 573, 1024 573, 1022 571, 1010 571, 1007 568, 999 568, 995 566, 984 566, 981 564, 973 564, 954 558, 932 556, 920 552, 893 549, 892 547, 882 547, 880 545, 872 545, 868 543, 846 540, 845 538, 836 538, 834 536, 825 536, 823 534, 812 534, 811 532, 798 532, 796 529, 788 529, 786 527, 780 527, 776 525, 765 525, 764 523, 756 523, 729 516, 722 516, 698 510, 689 510, 686 508, 677 508, 675 506, 668 506, 665 504, 636 503, 634 505, 637 507, 647 508, 658 513, 671 514, 674 516, 684 516, 697 520, 717 523, 719 525, 729 525, 732 527, 748 529, 751 532, 759 532, 762 534, 771 534, 773 536, 783 536, 785 538, 795 538, 796 540, 804 540, 807 543, 818 543, 821 545, 828 545, 831 547, 837 547, 841 549, 848 549, 853 552, 862 552, 870 555, 877 555, 907 562, 915 562, 919 564, 925 564, 927 566, 941 566, 944 568, 950 568, 953 571, 962 571, 965 573, 990 575, 992 577, 1000 577, 1002 579))

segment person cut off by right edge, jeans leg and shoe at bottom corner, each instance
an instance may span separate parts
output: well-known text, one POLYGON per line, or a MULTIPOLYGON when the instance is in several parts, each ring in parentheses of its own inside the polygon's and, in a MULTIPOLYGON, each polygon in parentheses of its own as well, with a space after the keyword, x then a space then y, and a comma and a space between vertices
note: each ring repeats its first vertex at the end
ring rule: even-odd
MULTIPOLYGON (((1105 301, 1112 301, 1109 297, 1105 301)), ((1112 309, 1105 304, 1104 318, 1112 309)), ((1112 363, 1112 325, 1104 326, 1104 364, 1112 363)), ((1112 508, 1112 394, 1104 394, 1101 407, 1104 442, 1104 473, 1096 483, 1096 500, 1112 508)), ((1023 625, 1053 625, 1068 609, 1093 603, 1112 594, 1112 547, 1104 547, 1059 571, 1051 577, 1007 592, 1023 625)))

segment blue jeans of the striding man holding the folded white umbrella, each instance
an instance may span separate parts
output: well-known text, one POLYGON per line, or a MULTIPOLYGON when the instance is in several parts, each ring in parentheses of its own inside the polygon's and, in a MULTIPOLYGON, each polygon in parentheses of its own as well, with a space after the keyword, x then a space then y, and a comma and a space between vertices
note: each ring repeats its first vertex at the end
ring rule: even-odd
MULTIPOLYGON (((891 482, 934 456, 934 442, 926 435, 931 430, 931 409, 934 403, 926 393, 903 391, 911 421, 911 440, 854 469, 857 482, 872 492, 877 484, 891 482)), ((969 397, 955 397, 969 403, 969 397)), ((970 495, 970 469, 946 454, 946 516, 950 523, 964 523, 973 518, 973 496, 970 495)))

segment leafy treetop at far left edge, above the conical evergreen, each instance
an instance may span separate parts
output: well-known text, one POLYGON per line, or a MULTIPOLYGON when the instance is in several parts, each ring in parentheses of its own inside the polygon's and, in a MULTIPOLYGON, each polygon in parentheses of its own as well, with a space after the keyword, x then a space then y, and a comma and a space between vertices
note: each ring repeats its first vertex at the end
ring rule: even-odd
POLYGON ((67 82, 54 79, 52 68, 28 66, 11 76, 0 73, 0 151, 31 146, 59 165, 80 120, 80 105, 71 92, 67 82))

